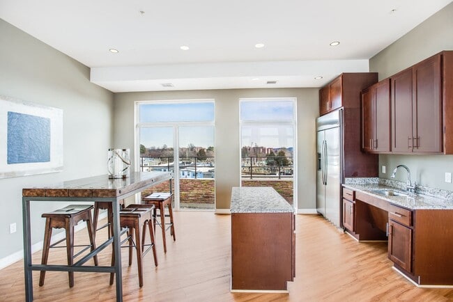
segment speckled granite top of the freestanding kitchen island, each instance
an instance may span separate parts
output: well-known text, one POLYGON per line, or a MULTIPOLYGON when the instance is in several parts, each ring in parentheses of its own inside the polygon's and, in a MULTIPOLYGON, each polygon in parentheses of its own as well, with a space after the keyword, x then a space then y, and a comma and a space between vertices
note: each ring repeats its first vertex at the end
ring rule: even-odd
POLYGON ((233 187, 231 213, 293 213, 293 207, 270 186, 233 187))

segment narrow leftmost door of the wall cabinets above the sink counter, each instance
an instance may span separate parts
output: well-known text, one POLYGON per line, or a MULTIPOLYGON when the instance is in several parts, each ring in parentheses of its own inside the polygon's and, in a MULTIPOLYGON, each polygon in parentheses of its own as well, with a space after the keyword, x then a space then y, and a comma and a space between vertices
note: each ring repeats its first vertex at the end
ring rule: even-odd
POLYGON ((369 88, 362 92, 362 149, 365 152, 373 150, 375 139, 374 89, 369 88))

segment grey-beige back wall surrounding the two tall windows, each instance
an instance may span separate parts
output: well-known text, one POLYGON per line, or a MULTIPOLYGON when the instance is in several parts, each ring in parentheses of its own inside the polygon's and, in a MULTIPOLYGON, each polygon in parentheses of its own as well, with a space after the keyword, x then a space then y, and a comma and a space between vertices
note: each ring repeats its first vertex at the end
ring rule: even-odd
POLYGON ((231 187, 240 184, 239 99, 297 97, 298 208, 316 209, 316 132, 318 89, 231 89, 149 93, 116 93, 114 141, 118 148, 134 148, 134 102, 143 100, 215 100, 216 208, 229 209, 231 187))

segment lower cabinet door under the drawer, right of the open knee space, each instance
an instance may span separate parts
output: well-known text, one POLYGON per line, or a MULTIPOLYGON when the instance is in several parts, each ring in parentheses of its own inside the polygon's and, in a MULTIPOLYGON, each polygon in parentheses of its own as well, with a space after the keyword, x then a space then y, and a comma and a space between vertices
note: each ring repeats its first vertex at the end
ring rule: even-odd
POLYGON ((389 221, 388 257, 408 272, 412 272, 412 229, 389 221))

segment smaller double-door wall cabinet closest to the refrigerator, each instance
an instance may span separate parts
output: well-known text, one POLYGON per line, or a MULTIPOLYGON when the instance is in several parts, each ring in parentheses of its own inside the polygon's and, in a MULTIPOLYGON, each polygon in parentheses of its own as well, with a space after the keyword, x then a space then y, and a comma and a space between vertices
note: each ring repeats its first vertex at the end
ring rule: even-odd
POLYGON ((390 152, 390 79, 362 91, 362 149, 390 152))

